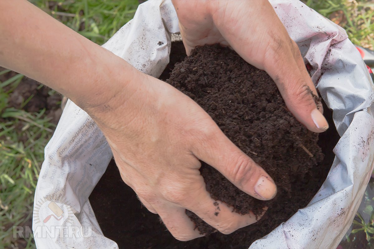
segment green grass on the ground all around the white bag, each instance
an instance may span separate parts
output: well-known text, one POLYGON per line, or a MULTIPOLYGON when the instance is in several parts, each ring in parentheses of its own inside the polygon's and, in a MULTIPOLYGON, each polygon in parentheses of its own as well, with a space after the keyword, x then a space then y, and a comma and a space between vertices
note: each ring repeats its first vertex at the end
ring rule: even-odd
MULTIPOLYGON (((135 13, 137 0, 31 0, 68 27, 95 43, 103 44, 135 13)), ((327 18, 341 17, 340 25, 347 30, 353 43, 374 47, 373 1, 306 0, 308 6, 327 18)), ((0 71, 6 74, 9 71, 0 71)), ((34 248, 32 239, 13 239, 12 226, 30 225, 34 190, 40 166, 44 160, 44 147, 52 136, 54 125, 45 111, 27 113, 8 107, 10 94, 22 81, 16 74, 0 81, 0 248, 34 248), (4 90, 6 89, 6 91, 4 90)), ((30 99, 25 99, 23 105, 30 99)), ((367 206, 373 207, 372 202, 367 206)), ((372 208, 366 208, 372 210, 372 208)), ((357 218, 357 217, 356 217, 357 218)), ((361 222, 359 218, 356 219, 361 222)), ((366 231, 371 231, 365 224, 366 231)), ((356 233, 365 231, 360 230, 356 233)))

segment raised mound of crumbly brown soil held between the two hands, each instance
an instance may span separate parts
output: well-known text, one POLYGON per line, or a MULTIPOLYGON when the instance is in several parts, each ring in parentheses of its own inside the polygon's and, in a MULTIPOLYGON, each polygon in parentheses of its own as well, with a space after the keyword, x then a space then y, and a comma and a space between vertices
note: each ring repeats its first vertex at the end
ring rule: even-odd
MULTIPOLYGON (((310 172, 323 159, 318 134, 307 130, 288 111, 265 71, 249 65, 233 50, 206 45, 177 63, 166 82, 197 102, 236 146, 268 172, 278 187, 273 200, 257 200, 202 162, 200 172, 214 200, 227 203, 239 214, 252 211, 260 215, 267 206, 265 216, 275 218, 278 214, 272 210, 279 212, 285 202, 305 198, 303 189, 313 181, 310 172), (295 192, 299 194, 294 195, 295 192)), ((200 233, 215 231, 194 213, 186 213, 200 233)))

